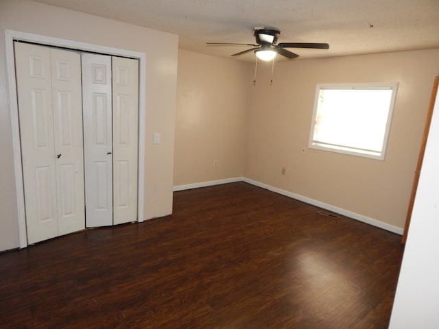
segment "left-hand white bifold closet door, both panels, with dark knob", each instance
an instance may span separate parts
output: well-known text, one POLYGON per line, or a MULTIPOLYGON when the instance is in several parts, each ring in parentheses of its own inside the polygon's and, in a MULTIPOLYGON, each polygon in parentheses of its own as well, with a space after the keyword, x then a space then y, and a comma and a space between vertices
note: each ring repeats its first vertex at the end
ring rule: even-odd
POLYGON ((84 229, 80 53, 14 42, 28 243, 84 229))

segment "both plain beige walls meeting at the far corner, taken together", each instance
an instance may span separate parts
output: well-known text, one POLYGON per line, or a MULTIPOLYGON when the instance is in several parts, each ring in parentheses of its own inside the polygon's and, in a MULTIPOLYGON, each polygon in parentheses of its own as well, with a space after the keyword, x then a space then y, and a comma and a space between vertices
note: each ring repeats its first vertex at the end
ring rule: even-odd
POLYGON ((438 58, 436 49, 276 62, 272 86, 271 64, 259 62, 252 86, 252 64, 180 50, 174 185, 244 176, 401 230, 438 58), (307 148, 316 84, 346 82, 399 83, 384 161, 307 148))

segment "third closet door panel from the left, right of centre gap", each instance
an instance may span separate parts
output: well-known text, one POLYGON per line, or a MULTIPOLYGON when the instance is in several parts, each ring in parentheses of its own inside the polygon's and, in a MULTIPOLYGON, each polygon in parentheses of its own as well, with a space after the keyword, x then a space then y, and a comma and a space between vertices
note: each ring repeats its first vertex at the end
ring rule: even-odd
POLYGON ((112 225, 111 57, 82 54, 86 226, 112 225))

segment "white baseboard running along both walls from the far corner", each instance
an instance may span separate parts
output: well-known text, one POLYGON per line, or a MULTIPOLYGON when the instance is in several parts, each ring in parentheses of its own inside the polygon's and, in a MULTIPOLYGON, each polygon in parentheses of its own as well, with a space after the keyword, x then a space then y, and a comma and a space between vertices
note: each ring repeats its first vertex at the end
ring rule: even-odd
POLYGON ((200 188, 200 187, 234 183, 234 182, 246 182, 246 183, 252 184, 254 186, 265 188, 268 191, 272 191, 274 193, 285 195, 286 197, 291 197, 292 199, 296 199, 296 200, 305 202, 307 204, 312 204, 313 206, 323 208, 323 209, 329 210, 331 212, 335 212, 337 214, 349 217, 351 219, 355 219, 357 221, 361 221, 361 222, 369 224, 371 226, 375 226, 377 228, 382 228, 383 230, 387 230, 387 231, 392 232, 392 233, 403 235, 403 229, 398 228, 397 226, 393 226, 393 225, 390 225, 388 223, 383 223, 382 221, 378 221, 377 219, 373 219, 370 217, 359 215, 355 212, 351 212, 349 210, 345 210, 342 208, 331 206, 331 204, 325 204, 324 202, 310 199, 309 197, 304 197, 303 195, 299 195, 296 193, 285 191, 281 188, 276 188, 274 186, 263 184, 261 182, 257 182, 256 180, 250 180, 249 178, 245 178, 245 177, 235 177, 235 178, 228 178, 225 180, 212 180, 210 182, 200 182, 200 183, 187 184, 187 185, 178 185, 178 186, 174 186, 174 192, 188 190, 191 188, 200 188))

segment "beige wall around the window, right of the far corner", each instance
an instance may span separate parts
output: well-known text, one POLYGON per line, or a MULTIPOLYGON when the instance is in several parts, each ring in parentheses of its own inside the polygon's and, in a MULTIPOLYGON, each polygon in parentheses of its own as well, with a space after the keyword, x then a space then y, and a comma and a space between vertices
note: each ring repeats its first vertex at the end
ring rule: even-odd
POLYGON ((439 50, 276 62, 252 89, 246 177, 403 228, 439 50), (384 161, 307 147, 316 84, 399 82, 384 161), (281 168, 286 167, 286 175, 281 168))

